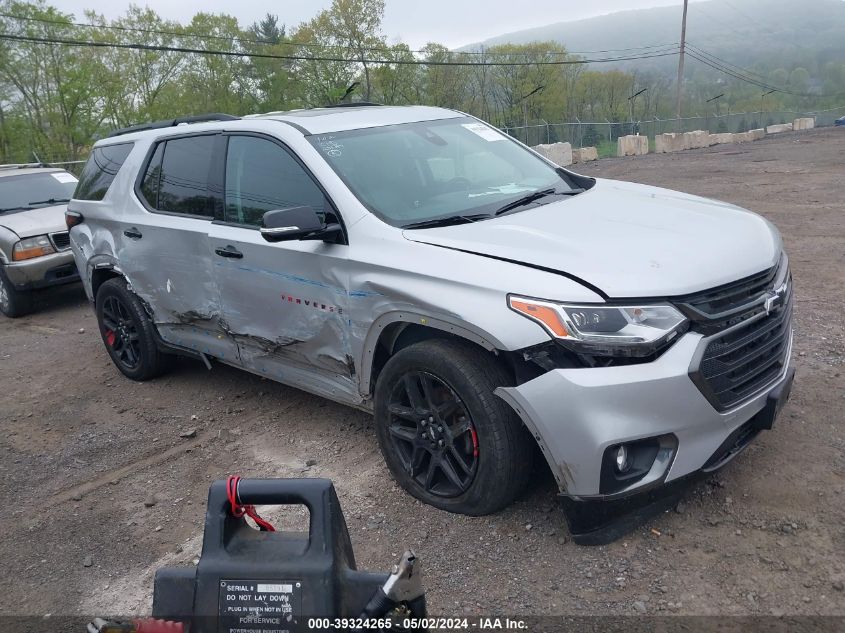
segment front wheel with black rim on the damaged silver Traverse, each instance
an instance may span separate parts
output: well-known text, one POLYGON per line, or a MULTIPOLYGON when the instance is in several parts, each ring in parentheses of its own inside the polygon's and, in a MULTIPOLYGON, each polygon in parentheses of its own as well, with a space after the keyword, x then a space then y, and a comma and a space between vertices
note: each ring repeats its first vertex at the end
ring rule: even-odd
POLYGON ((376 382, 375 420, 394 479, 449 512, 481 516, 512 503, 531 473, 532 444, 493 394, 510 383, 489 353, 463 341, 423 341, 392 356, 376 382))

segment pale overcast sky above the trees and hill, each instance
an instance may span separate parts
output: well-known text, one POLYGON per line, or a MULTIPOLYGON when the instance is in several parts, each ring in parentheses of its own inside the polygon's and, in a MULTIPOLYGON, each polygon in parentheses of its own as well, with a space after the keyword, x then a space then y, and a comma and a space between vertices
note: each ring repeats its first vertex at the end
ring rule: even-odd
MULTIPOLYGON (((85 9, 114 18, 130 4, 123 0, 47 2, 77 18, 85 9)), ((159 15, 180 22, 189 21, 199 11, 223 12, 234 15, 243 26, 270 11, 281 22, 295 26, 328 7, 331 0, 139 0, 135 4, 146 4, 159 15)), ((532 26, 673 4, 679 5, 681 0, 385 0, 384 32, 391 42, 407 42, 414 48, 429 41, 454 48, 532 26)))

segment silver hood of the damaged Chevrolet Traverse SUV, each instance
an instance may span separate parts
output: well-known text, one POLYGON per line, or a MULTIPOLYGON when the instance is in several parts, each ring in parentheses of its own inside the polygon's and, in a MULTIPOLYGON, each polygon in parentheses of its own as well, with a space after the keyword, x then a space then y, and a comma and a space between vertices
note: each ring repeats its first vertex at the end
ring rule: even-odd
POLYGON ((774 226, 740 207, 603 179, 582 194, 501 218, 403 233, 554 270, 610 298, 707 290, 774 266, 782 249, 774 226))

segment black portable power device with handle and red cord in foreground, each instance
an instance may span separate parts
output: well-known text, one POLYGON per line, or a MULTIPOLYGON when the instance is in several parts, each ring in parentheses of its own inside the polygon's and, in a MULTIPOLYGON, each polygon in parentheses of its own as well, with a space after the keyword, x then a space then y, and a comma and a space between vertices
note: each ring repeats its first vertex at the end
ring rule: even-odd
POLYGON ((391 574, 356 569, 331 481, 243 479, 232 485, 230 478, 211 486, 197 566, 156 573, 154 618, 184 623, 191 633, 266 633, 327 628, 339 618, 382 618, 396 608, 409 617, 425 615, 412 552, 391 574), (256 529, 243 510, 236 511, 233 495, 253 518, 250 506, 304 505, 309 532, 269 531, 260 517, 262 529, 256 529), (315 618, 323 619, 316 627, 315 618))

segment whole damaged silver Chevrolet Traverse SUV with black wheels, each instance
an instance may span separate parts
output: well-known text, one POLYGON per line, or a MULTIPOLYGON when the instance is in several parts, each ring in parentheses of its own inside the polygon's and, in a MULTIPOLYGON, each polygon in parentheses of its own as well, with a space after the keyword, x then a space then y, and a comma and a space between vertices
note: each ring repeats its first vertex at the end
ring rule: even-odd
POLYGON ((769 222, 577 175, 460 112, 176 119, 86 171, 71 244, 120 371, 190 355, 372 411, 393 476, 445 510, 508 505, 539 453, 576 506, 651 497, 789 394, 769 222))

